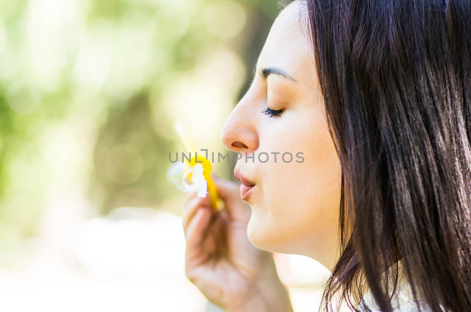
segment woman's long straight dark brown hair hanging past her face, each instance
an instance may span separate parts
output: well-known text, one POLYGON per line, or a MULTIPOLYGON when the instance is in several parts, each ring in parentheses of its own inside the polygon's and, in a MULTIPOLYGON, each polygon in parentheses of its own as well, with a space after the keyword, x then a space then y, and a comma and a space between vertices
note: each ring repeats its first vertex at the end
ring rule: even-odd
POLYGON ((470 0, 301 2, 342 166, 322 307, 369 287, 392 311, 401 262, 416 300, 471 311, 470 0))

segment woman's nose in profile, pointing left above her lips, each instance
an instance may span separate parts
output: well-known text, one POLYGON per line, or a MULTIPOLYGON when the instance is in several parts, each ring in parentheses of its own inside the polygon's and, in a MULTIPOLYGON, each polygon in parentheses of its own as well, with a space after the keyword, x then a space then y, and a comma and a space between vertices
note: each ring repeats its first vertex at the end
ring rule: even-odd
POLYGON ((259 146, 256 109, 247 97, 237 103, 221 130, 222 144, 238 153, 252 153, 259 146))

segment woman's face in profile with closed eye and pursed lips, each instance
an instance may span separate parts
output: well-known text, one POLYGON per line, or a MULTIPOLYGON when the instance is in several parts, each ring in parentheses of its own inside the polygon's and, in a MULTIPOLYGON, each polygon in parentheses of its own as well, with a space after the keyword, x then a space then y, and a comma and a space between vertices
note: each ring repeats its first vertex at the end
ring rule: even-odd
POLYGON ((308 255, 329 268, 337 247, 341 166, 300 20, 303 9, 295 1, 276 18, 252 85, 227 118, 221 141, 243 155, 235 171, 255 184, 243 196, 252 208, 252 244, 308 255), (292 161, 288 154, 282 159, 286 152, 292 161), (254 161, 245 153, 254 153, 254 161), (259 161, 260 153, 268 154, 260 156, 267 162, 259 161))

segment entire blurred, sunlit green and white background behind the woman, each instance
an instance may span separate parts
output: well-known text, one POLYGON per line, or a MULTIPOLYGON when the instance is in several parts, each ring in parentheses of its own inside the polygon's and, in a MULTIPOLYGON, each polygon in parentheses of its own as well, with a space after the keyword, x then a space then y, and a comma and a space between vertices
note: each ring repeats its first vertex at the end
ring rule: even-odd
MULTIPOLYGON (((217 311, 185 277, 171 125, 227 152, 276 0, 0 7, 0 310, 217 311)), ((325 269, 275 257, 295 311, 317 311, 325 269)))

